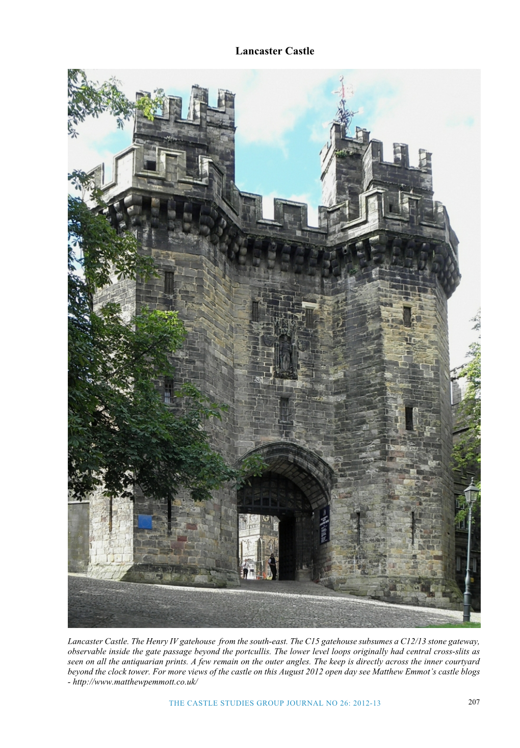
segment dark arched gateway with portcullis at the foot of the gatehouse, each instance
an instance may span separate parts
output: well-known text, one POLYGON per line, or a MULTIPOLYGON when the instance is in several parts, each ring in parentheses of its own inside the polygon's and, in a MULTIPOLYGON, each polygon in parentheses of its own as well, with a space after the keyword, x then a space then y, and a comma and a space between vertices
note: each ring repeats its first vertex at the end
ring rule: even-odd
POLYGON ((319 509, 329 503, 332 470, 314 453, 287 442, 252 453, 261 454, 269 469, 237 491, 238 514, 278 517, 279 579, 314 579, 318 575, 319 509))

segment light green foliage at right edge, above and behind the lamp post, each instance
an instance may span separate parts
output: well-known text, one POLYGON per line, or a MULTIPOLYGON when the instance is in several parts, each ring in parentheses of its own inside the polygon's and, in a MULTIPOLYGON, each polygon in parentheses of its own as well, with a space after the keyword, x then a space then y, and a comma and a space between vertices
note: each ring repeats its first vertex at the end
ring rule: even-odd
MULTIPOLYGON (((471 321, 474 322, 473 329, 480 332, 480 310, 471 321)), ((480 489, 480 334, 478 340, 469 346, 467 358, 468 364, 459 372, 459 378, 465 379, 465 391, 456 417, 463 430, 454 444, 453 462, 454 468, 463 473, 475 473, 475 485, 480 489)), ((461 509, 456 522, 466 514, 467 509, 461 509)))

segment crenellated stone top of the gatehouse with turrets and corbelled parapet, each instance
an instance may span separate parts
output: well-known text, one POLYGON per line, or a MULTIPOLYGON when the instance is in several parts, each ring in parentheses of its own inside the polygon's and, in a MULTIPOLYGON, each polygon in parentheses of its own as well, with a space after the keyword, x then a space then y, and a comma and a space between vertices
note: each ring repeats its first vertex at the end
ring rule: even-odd
POLYGON ((334 123, 321 151, 324 206, 311 227, 306 203, 276 198, 273 218, 264 218, 261 195, 235 186, 232 93, 220 90, 211 108, 208 90, 194 86, 188 118, 181 114, 182 99, 168 96, 152 122, 137 115, 134 142, 114 156, 111 182, 102 165, 93 170, 119 230, 199 234, 237 266, 326 278, 395 265, 435 273, 447 295, 458 285, 458 240, 433 201, 426 150, 411 167, 408 147, 396 143, 394 162, 385 162, 383 144, 367 130, 347 138, 334 123))

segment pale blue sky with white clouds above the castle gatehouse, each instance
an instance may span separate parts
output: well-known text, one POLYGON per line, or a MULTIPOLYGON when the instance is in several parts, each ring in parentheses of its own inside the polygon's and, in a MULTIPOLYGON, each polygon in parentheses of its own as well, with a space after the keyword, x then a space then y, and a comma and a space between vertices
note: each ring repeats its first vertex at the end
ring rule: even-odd
MULTIPOLYGON (((359 113, 356 126, 383 141, 393 161, 394 142, 409 145, 410 164, 418 150, 430 151, 434 199, 448 210, 459 238, 462 281, 448 301, 451 367, 467 361, 477 340, 471 319, 480 307, 480 71, 479 70, 117 70, 91 69, 103 81, 115 76, 129 98, 137 91, 182 96, 186 117, 191 86, 235 93, 235 182, 261 194, 265 218, 273 217, 273 197, 306 202, 309 224, 318 224, 321 204, 319 153, 335 116, 339 76, 353 86, 347 102, 359 113)), ((93 168, 131 143, 132 124, 118 131, 109 115, 78 127, 69 141, 69 169, 93 168)), ((108 177, 107 174, 107 177, 108 177)))

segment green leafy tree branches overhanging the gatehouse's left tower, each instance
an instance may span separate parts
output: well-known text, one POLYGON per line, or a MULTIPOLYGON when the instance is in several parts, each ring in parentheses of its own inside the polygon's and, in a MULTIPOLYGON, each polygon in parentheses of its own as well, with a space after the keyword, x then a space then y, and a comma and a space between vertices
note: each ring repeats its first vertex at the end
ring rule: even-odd
MULTIPOLYGON (((99 85, 82 70, 69 70, 69 135, 87 117, 109 111, 118 126, 140 108, 150 119, 155 98, 131 102, 117 81, 99 85)), ((75 188, 102 205, 102 194, 83 171, 69 174, 75 188)), ((240 484, 263 462, 246 460, 241 470, 211 449, 205 423, 220 419, 226 406, 211 402, 193 384, 162 402, 156 383, 174 377, 170 356, 186 337, 176 312, 143 308, 123 319, 120 305, 94 309, 96 289, 117 281, 146 281, 155 275, 152 258, 140 254, 136 237, 118 234, 83 197, 69 195, 69 490, 86 497, 97 488, 108 496, 133 495, 135 485, 158 499, 188 488, 194 500, 211 497, 227 481, 240 484)))

